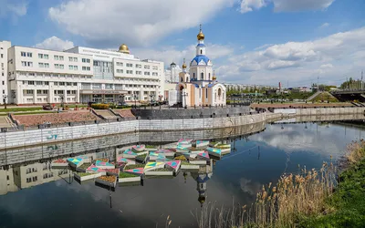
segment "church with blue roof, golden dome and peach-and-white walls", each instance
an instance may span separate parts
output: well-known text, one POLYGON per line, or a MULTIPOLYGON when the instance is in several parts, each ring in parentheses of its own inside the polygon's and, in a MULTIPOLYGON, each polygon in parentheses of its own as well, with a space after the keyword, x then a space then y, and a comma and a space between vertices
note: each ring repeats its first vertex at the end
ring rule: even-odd
POLYGON ((202 28, 197 38, 196 57, 190 62, 189 73, 184 60, 176 90, 171 90, 169 94, 169 105, 181 103, 183 107, 225 106, 225 87, 216 81, 212 61, 205 56, 202 28))

